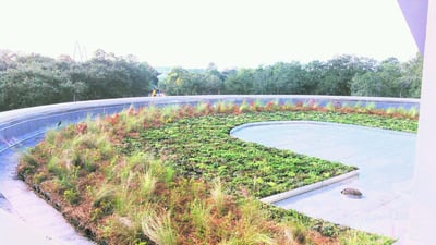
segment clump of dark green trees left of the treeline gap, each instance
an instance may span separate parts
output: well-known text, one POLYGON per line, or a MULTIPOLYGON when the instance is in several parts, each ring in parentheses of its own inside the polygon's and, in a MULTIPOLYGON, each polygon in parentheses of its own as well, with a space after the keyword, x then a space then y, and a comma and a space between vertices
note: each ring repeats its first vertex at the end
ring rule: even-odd
POLYGON ((0 51, 0 111, 105 98, 146 96, 158 73, 134 57, 96 51, 86 62, 68 56, 0 51))

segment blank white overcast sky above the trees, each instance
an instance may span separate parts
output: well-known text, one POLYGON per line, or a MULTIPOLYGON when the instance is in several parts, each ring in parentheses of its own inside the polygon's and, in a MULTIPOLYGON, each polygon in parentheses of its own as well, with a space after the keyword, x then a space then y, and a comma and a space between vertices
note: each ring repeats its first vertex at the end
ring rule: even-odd
POLYGON ((152 66, 255 68, 417 48, 396 0, 0 0, 0 49, 152 66), (87 56, 80 56, 86 50, 87 56))

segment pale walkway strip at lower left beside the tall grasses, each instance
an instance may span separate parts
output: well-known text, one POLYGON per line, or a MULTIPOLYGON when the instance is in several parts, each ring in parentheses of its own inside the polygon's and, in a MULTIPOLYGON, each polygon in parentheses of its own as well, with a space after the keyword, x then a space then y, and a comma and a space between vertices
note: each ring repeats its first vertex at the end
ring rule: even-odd
POLYGON ((39 198, 21 180, 15 168, 20 152, 39 137, 0 152, 0 244, 92 245, 62 215, 39 198))

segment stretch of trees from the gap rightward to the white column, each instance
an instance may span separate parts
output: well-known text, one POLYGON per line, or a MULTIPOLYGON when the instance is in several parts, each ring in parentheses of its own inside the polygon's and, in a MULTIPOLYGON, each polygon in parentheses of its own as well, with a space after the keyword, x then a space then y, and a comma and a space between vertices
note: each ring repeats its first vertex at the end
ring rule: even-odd
POLYGON ((422 58, 408 62, 390 58, 340 56, 326 62, 279 62, 256 69, 218 71, 209 64, 203 72, 172 69, 159 81, 168 95, 294 94, 380 97, 420 97, 422 58))

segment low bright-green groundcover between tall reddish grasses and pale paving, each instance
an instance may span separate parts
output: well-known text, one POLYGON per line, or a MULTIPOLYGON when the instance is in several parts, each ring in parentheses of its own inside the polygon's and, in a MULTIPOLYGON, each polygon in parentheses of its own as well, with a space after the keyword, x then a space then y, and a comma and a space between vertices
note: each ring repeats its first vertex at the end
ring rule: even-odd
MULTIPOLYGON (((126 151, 145 150, 173 162, 186 176, 219 176, 232 193, 247 188, 266 197, 354 170, 353 167, 246 143, 229 135, 249 122, 312 120, 411 130, 408 122, 377 115, 303 112, 259 112, 190 118, 149 128, 138 138, 125 138, 126 151)), ((316 139, 314 139, 316 140, 316 139)))

